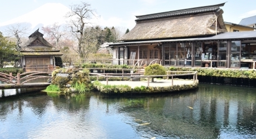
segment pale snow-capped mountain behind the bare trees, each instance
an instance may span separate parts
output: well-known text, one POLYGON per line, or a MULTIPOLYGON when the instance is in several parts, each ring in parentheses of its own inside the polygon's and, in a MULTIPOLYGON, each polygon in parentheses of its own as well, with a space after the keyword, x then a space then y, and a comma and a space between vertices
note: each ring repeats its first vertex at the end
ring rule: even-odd
POLYGON ((46 3, 20 17, 0 23, 0 31, 7 26, 11 26, 12 24, 15 25, 17 23, 21 24, 21 26, 31 27, 30 29, 32 32, 37 28, 53 23, 63 24, 66 23, 65 15, 69 11, 70 9, 61 3, 46 3))

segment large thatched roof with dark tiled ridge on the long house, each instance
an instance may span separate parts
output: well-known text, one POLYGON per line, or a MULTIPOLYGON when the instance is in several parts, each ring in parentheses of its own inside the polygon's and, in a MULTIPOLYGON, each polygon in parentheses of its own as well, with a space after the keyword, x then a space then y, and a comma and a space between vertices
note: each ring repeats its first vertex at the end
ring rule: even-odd
POLYGON ((223 10, 219 6, 197 7, 164 13, 136 16, 136 26, 121 37, 120 41, 152 40, 167 38, 198 37, 227 32, 223 21, 223 10))

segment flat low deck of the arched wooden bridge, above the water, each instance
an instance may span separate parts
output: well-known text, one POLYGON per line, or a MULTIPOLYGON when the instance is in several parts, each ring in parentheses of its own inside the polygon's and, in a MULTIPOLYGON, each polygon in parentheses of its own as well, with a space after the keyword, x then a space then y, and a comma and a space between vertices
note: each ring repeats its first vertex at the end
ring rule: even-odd
POLYGON ((23 83, 23 85, 14 85, 12 83, 0 84, 0 90, 15 89, 15 88, 43 88, 51 85, 51 83, 41 82, 41 83, 23 83))

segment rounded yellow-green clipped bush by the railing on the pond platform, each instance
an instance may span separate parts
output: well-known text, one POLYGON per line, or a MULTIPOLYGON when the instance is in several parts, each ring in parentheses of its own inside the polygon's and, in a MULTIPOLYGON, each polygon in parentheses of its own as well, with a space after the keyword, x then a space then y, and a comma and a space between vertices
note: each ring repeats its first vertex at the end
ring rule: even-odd
MULTIPOLYGON (((160 64, 150 64, 145 68, 144 76, 150 76, 150 75, 166 75, 166 71, 164 66, 161 66, 160 64)), ((151 78, 151 81, 154 82, 154 77, 151 78)))

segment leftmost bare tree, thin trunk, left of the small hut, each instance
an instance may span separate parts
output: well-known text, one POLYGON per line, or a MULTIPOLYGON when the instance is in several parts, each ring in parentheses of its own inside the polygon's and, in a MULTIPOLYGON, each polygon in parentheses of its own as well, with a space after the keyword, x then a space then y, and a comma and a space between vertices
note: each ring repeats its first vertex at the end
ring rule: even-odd
POLYGON ((18 67, 18 63, 21 59, 21 38, 27 34, 28 27, 21 26, 21 24, 16 24, 15 26, 8 26, 6 33, 8 37, 15 37, 16 38, 16 51, 18 52, 17 58, 14 60, 15 67, 18 67))

